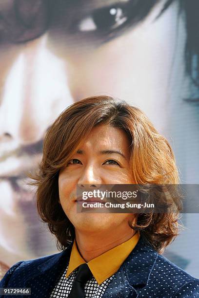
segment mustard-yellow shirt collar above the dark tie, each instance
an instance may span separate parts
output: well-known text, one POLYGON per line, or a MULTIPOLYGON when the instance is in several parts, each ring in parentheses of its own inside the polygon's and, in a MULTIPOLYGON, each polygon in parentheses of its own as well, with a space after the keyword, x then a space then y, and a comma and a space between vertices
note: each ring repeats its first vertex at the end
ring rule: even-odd
POLYGON ((113 247, 112 249, 104 252, 89 262, 86 262, 81 257, 75 239, 66 272, 66 278, 81 264, 87 263, 94 278, 97 280, 98 284, 101 284, 104 280, 108 279, 118 271, 121 264, 125 261, 125 259, 138 243, 139 237, 139 232, 137 232, 129 240, 113 247))

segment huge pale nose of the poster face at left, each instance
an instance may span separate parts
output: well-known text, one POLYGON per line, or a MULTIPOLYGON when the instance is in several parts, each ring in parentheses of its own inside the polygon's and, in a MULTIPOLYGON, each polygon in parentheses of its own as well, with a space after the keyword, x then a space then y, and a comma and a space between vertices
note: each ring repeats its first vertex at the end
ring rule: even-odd
POLYGON ((72 103, 60 61, 40 41, 24 47, 5 78, 0 103, 0 142, 20 145, 43 138, 60 112, 72 103))

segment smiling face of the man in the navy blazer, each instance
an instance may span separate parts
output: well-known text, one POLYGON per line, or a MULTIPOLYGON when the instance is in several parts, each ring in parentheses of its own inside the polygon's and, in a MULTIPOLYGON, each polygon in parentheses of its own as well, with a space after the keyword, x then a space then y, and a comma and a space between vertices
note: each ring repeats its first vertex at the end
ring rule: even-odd
POLYGON ((129 170, 129 140, 126 133, 107 125, 93 128, 78 153, 59 174, 60 204, 75 229, 84 232, 113 230, 128 221, 127 213, 77 213, 77 187, 98 189, 99 185, 133 184, 129 170), (118 151, 119 153, 111 152, 118 151))

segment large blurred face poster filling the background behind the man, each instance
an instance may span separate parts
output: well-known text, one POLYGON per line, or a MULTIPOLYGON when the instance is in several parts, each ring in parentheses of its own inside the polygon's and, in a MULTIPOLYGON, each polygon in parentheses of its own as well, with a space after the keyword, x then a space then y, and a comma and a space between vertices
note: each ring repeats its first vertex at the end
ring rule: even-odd
MULTIPOLYGON (((106 94, 139 107, 174 149, 181 183, 199 183, 198 11, 198 0, 0 1, 1 278, 57 252, 26 182, 73 102, 106 94)), ((182 222, 165 256, 199 278, 199 216, 182 222)))

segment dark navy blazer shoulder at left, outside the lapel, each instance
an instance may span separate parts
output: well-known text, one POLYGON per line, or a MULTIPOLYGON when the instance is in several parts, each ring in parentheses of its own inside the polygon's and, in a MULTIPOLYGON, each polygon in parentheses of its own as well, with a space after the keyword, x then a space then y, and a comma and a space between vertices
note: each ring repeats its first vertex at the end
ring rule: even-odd
POLYGON ((64 251, 38 259, 19 261, 0 280, 0 287, 7 287, 8 285, 19 287, 19 283, 22 284, 23 281, 37 274, 40 268, 48 268, 59 261, 63 253, 64 251))

